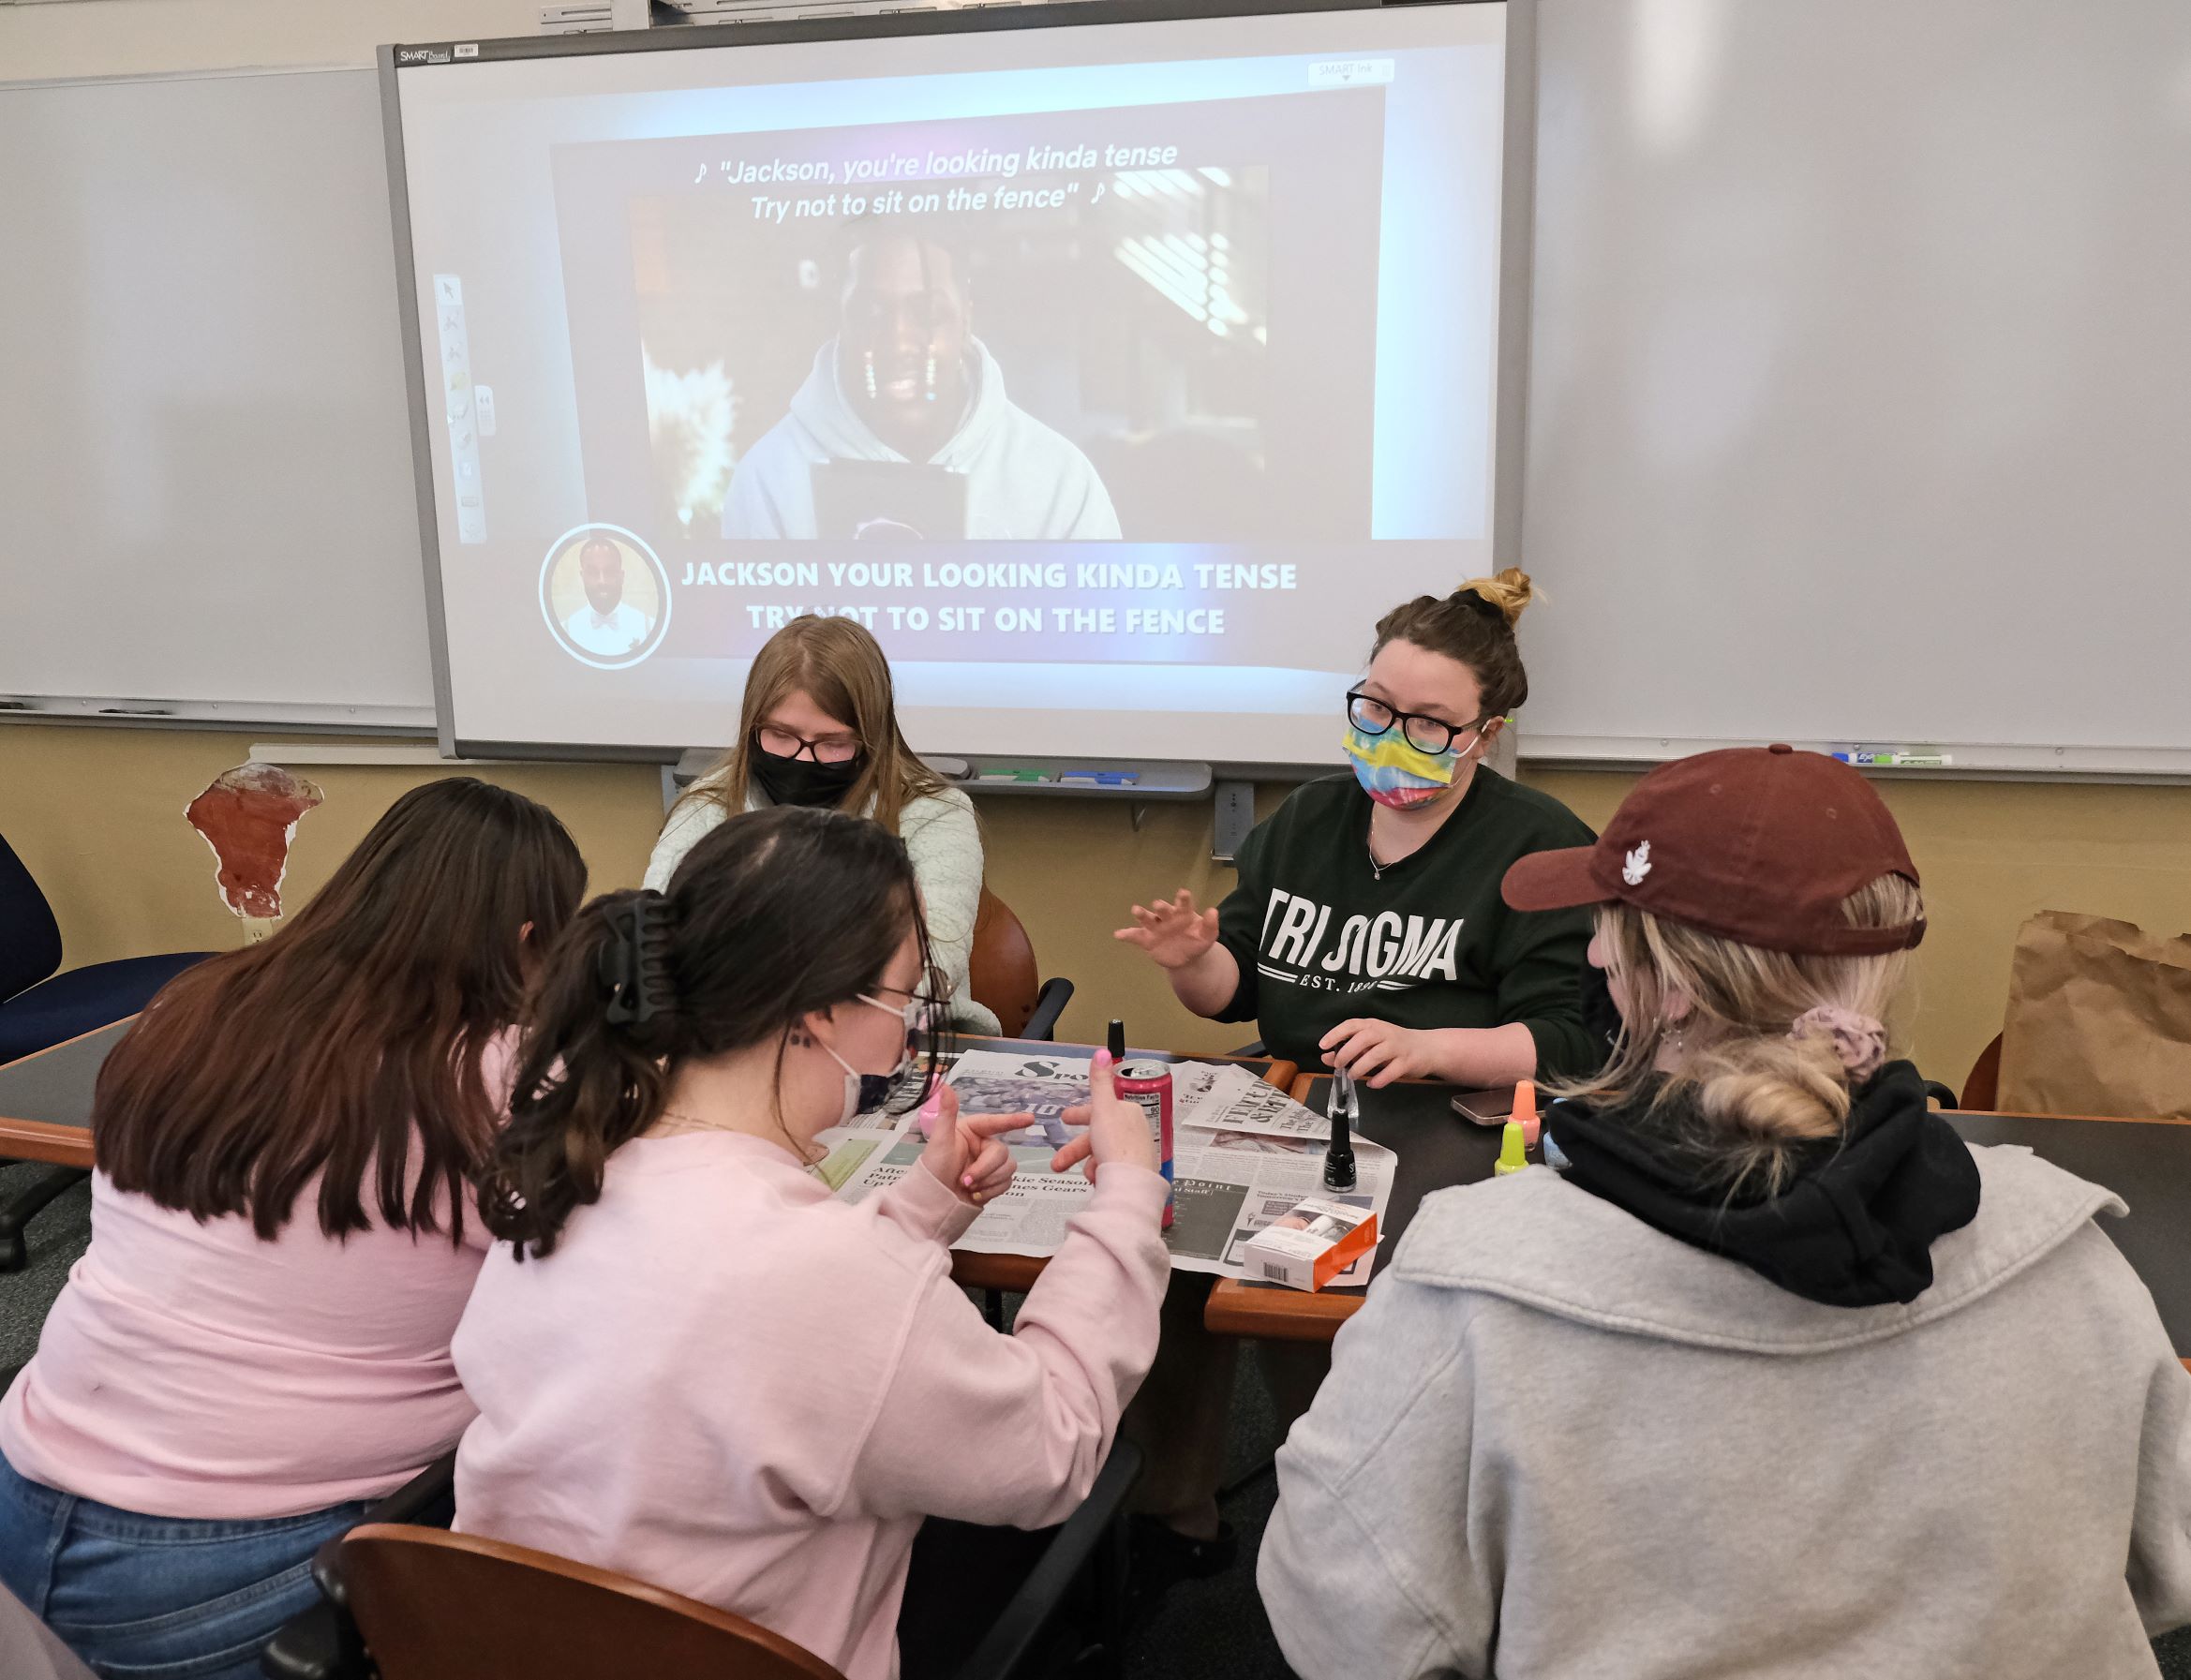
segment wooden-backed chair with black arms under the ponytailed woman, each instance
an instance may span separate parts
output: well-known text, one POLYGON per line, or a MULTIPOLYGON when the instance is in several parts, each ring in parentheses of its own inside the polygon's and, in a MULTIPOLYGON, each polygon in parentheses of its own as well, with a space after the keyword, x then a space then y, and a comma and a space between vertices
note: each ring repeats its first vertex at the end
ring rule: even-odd
MULTIPOLYGON (((451 1465, 454 1454, 368 1518, 429 1511, 451 1465)), ((1120 1673, 1126 1496, 1139 1474, 1142 1452, 1113 1443, 957 1680, 1047 1671, 1067 1632, 1076 1676, 1120 1673)), ((480 1535, 366 1522, 320 1546, 311 1573, 324 1597, 267 1645, 259 1667, 272 1680, 837 1680, 828 1662, 743 1616, 480 1535)))

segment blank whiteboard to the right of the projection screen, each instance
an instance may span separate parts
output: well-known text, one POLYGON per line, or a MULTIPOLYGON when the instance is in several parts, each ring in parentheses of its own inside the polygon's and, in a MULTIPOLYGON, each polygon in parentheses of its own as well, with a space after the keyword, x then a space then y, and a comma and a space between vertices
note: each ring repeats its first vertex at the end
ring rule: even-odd
POLYGON ((2191 7, 1542 0, 1532 758, 2191 769, 2191 7))

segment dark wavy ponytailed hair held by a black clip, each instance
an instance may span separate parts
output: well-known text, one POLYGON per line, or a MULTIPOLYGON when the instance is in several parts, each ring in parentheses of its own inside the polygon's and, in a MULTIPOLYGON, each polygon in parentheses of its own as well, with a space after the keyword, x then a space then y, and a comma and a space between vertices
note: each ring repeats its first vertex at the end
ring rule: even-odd
POLYGON ((541 966, 511 1124, 480 1185, 486 1229, 519 1259, 554 1253, 570 1216, 600 1200, 609 1157, 662 1117, 679 1062, 773 1038, 782 1080, 793 1027, 881 986, 907 933, 927 968, 905 841, 808 806, 730 817, 666 894, 596 898, 541 966), (620 983, 635 994, 624 1021, 620 983))

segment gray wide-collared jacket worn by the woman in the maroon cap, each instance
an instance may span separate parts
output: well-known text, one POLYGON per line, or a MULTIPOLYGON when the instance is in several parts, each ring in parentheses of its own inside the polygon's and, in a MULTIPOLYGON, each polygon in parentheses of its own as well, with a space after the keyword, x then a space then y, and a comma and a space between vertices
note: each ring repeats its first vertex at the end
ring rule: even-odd
POLYGON ((1306 1680, 2114 1680, 2191 1621, 2191 1376, 2106 1189, 1972 1150, 1908 1305, 1545 1167, 1424 1200, 1277 1457, 1306 1680))

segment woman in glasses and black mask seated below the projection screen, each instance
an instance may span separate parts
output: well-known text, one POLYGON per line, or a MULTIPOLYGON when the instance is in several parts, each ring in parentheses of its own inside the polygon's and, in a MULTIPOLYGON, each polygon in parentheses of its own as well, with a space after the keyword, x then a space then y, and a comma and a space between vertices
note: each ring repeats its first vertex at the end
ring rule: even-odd
POLYGON ((646 885, 668 887, 684 854, 723 817, 817 806, 874 817, 905 841, 920 881, 936 966, 951 983, 951 1025, 995 1034, 973 1001, 973 922, 982 911, 982 828, 973 799, 914 756, 898 729, 890 659, 857 618, 793 618, 745 677, 738 738, 662 824, 646 885))

